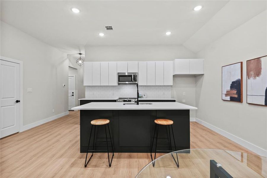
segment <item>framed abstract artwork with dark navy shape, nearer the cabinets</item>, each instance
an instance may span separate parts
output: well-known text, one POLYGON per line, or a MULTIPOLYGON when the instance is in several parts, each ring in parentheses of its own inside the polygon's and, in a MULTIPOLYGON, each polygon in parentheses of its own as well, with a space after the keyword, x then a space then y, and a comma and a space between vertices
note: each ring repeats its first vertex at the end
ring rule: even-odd
POLYGON ((222 67, 222 100, 243 102, 243 63, 222 67))

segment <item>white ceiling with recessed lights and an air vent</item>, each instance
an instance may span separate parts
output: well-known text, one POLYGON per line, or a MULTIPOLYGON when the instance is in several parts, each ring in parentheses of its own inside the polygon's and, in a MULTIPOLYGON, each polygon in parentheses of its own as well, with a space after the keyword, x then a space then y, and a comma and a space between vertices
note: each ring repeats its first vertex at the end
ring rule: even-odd
MULTIPOLYGON (((266 9, 266 5, 263 6, 266 1, 251 1, 249 5, 252 5, 252 12, 248 11, 246 5, 241 9, 238 7, 244 1, 232 3, 231 8, 235 6, 239 9, 226 8, 219 15, 218 12, 227 7, 228 1, 0 2, 2 21, 49 45, 73 53, 84 53, 85 45, 185 45, 196 52, 201 45, 207 45, 207 42, 239 24, 231 21, 224 23, 222 27, 211 28, 216 31, 221 28, 225 30, 220 30, 219 35, 213 35, 202 44, 201 36, 210 33, 210 28, 207 27, 213 27, 213 24, 218 26, 216 18, 212 20, 216 15, 220 17, 219 20, 224 17, 231 20, 232 16, 242 12, 245 17, 234 20, 243 22, 266 9), (203 5, 203 9, 193 11, 199 4, 203 5), (77 7, 81 12, 75 14, 71 7, 77 7), (113 26, 114 30, 105 31, 106 25, 113 26), (166 36, 166 31, 171 31, 172 34, 166 36), (100 37, 99 33, 104 33, 105 36, 100 37)), ((216 31, 212 33, 216 34, 216 31)))

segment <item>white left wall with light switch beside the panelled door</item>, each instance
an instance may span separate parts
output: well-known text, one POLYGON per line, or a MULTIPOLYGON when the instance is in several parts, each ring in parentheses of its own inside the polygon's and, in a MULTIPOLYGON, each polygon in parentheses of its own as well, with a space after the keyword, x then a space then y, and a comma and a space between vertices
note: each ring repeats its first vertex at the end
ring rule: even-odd
POLYGON ((67 112, 67 55, 2 21, 0 35, 1 55, 23 61, 23 125, 67 112))

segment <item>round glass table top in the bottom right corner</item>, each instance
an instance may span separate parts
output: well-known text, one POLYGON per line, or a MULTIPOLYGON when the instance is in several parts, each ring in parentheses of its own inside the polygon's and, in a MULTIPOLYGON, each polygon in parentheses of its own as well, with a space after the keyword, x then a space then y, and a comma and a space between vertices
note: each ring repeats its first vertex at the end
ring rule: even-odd
POLYGON ((267 177, 267 158, 219 149, 180 150, 160 156, 148 163, 136 178, 216 176, 267 177))

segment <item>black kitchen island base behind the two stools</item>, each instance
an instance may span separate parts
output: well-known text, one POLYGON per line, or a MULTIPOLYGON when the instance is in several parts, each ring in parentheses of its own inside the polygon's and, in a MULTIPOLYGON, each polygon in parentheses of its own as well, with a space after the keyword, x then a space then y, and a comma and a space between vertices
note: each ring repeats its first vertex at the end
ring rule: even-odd
MULTIPOLYGON (((113 137, 114 152, 150 152, 156 118, 173 120, 177 150, 190 149, 189 110, 81 110, 80 152, 87 151, 90 122, 95 119, 110 120, 109 128, 113 137)), ((105 141, 104 128, 104 125, 96 126, 96 141, 105 141)), ((172 150, 175 150, 173 138, 171 140, 172 150)), ((89 150, 92 150, 92 141, 93 134, 89 150)), ((158 141, 169 141, 168 126, 159 126, 158 141)), ((95 143, 95 150, 106 150, 106 142, 95 143)), ((109 147, 110 152, 111 150, 109 147)), ((170 145, 158 142, 157 150, 170 150, 170 145)))

